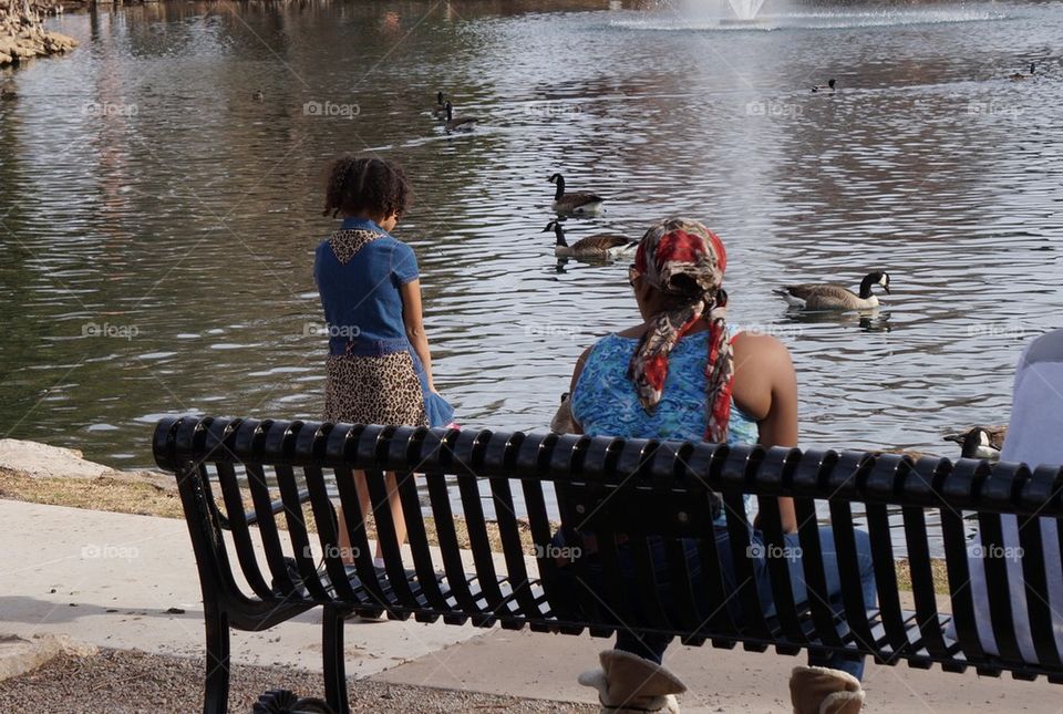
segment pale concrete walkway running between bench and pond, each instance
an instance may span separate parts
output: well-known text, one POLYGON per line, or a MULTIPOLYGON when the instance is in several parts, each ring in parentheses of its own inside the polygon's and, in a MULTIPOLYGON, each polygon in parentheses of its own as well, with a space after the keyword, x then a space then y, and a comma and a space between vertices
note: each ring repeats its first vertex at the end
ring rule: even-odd
MULTIPOLYGON (((0 633, 65 633, 99 646, 203 654, 202 606, 184 521, 0 500, 0 633)), ((234 659, 320 670, 319 618, 234 633, 234 659)), ((413 622, 351 623, 355 676, 528 699, 592 702, 576 675, 608 641, 413 622)), ((799 658, 674 646, 684 712, 783 714, 799 658)), ((868 665, 865 711, 1063 713, 1063 687, 868 665)), ((197 703, 189 703, 189 711, 197 703)), ((546 710, 544 710, 546 711, 546 710)))

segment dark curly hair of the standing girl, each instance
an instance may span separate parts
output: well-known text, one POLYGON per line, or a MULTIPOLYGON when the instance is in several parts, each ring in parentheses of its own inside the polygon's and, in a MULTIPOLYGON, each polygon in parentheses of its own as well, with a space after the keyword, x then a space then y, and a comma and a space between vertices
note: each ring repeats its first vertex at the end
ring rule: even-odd
POLYGON ((341 156, 329 168, 324 216, 401 216, 409 196, 402 168, 380 158, 341 156))

